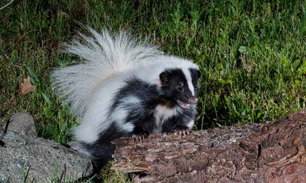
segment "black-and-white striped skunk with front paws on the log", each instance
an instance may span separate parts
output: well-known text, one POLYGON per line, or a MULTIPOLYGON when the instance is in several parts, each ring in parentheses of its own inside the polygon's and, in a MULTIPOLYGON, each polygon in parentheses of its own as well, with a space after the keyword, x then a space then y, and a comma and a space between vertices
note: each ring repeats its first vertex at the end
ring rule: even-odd
POLYGON ((64 52, 83 62, 52 72, 55 93, 81 118, 71 148, 96 168, 115 150, 111 141, 137 134, 191 130, 200 70, 189 60, 164 55, 127 33, 101 34, 67 44, 64 52))

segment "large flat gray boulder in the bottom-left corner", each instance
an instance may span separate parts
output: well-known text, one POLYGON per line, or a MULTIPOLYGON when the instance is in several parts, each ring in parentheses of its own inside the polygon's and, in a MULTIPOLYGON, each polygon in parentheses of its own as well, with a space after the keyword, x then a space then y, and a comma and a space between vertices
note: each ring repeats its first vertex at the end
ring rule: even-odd
MULTIPOLYGON (((12 129, 10 125, 8 129, 12 129)), ((93 165, 83 155, 58 142, 29 138, 24 134, 30 131, 17 129, 18 125, 6 133, 0 130, 0 183, 23 183, 25 179, 26 182, 48 183, 92 174, 93 165)))

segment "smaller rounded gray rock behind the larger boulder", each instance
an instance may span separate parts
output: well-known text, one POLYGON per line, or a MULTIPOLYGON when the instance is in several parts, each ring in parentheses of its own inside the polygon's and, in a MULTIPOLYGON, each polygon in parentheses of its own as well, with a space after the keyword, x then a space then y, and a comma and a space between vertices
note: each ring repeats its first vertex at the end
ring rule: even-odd
POLYGON ((8 131, 14 131, 28 137, 36 137, 36 128, 34 119, 29 113, 16 113, 10 118, 7 128, 8 131))

